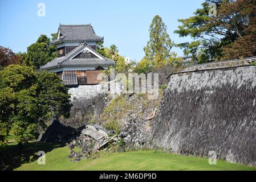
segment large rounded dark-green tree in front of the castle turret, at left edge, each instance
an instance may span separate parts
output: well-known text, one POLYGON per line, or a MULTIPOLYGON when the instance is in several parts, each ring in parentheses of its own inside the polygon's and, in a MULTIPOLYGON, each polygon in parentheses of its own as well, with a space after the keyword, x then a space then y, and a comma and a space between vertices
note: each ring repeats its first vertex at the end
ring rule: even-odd
POLYGON ((0 73, 0 144, 8 135, 18 143, 34 140, 51 117, 69 117, 68 89, 54 73, 22 65, 9 65, 0 73))

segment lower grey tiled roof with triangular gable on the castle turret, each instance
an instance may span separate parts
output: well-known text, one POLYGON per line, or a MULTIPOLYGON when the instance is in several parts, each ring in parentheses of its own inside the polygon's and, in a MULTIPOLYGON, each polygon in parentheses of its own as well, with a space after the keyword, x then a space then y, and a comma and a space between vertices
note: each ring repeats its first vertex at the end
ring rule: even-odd
POLYGON ((56 67, 96 67, 96 66, 110 66, 115 65, 114 61, 111 61, 99 53, 94 51, 94 49, 87 46, 86 43, 80 44, 78 47, 73 49, 70 53, 63 57, 56 57, 54 60, 40 67, 40 69, 51 69, 56 67), (75 58, 84 48, 90 49, 91 52, 94 52, 97 55, 97 58, 75 58))

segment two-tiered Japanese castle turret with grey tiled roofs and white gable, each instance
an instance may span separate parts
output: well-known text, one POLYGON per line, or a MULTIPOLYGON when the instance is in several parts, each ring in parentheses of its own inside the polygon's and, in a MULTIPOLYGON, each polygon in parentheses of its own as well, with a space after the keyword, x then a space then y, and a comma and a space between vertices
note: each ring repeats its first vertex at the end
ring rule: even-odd
POLYGON ((98 75, 115 61, 96 52, 98 42, 103 42, 103 37, 95 34, 91 24, 60 24, 57 38, 50 43, 56 45, 58 57, 40 70, 56 73, 67 86, 99 84, 98 75))

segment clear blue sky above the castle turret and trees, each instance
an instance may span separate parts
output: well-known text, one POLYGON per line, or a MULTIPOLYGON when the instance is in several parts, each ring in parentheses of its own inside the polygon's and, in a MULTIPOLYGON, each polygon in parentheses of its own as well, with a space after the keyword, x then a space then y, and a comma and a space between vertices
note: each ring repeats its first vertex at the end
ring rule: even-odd
MULTIPOLYGON (((149 25, 160 15, 175 43, 188 42, 173 31, 180 25, 177 19, 188 18, 203 0, 155 1, 59 1, 0 0, 0 46, 24 52, 40 34, 50 36, 61 24, 91 23, 97 35, 104 36, 104 46, 116 44, 120 55, 139 61, 149 39, 149 25), (46 5, 46 16, 39 17, 38 3, 46 5)), ((173 48, 178 56, 182 50, 173 48)))

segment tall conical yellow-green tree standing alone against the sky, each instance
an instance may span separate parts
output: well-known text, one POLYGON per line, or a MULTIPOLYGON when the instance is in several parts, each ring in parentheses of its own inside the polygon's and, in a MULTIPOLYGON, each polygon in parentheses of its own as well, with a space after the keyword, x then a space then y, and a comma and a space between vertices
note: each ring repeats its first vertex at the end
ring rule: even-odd
POLYGON ((149 41, 144 47, 145 59, 155 67, 162 67, 165 64, 173 46, 166 29, 162 18, 156 15, 149 28, 149 41))

